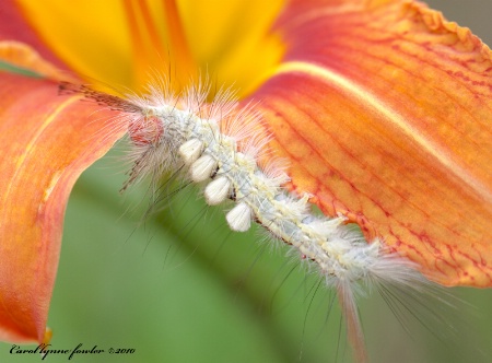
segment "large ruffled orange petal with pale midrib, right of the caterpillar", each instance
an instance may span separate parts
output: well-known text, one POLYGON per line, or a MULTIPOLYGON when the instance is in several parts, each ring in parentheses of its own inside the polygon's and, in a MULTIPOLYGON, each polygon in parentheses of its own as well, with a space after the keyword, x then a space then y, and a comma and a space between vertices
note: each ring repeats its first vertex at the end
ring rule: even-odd
POLYGON ((409 1, 294 1, 257 92, 291 188, 446 285, 492 285, 492 60, 409 1))

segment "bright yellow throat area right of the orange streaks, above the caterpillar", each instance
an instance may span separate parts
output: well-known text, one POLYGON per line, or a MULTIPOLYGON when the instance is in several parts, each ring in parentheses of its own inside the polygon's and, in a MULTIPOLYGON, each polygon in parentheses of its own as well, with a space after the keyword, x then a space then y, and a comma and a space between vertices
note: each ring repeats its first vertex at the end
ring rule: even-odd
MULTIPOLYGON (((241 96, 255 91, 274 71, 285 52, 271 27, 284 0, 177 1, 197 65, 241 96)), ((179 66, 179 65, 177 65, 179 66)))

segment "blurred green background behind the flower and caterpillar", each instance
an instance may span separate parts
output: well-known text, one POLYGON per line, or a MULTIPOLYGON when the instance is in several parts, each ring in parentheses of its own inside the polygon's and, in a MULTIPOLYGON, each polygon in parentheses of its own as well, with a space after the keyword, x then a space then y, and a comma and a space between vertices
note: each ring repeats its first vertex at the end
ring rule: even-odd
MULTIPOLYGON (((429 3, 492 44, 492 1, 429 3)), ((258 243, 258 230, 231 233, 221 208, 206 208, 191 187, 142 219, 148 194, 119 195, 118 155, 86 171, 70 198, 49 315, 52 349, 134 349, 73 362, 351 362, 337 302, 295 256, 258 243)), ((424 321, 431 329, 405 314, 410 333, 379 297, 361 301, 372 361, 492 362, 492 291, 450 291, 473 307, 457 303, 445 323, 424 321), (448 321, 457 337, 447 337, 448 321)), ((40 361, 10 348, 0 344, 0 362, 40 361)))

